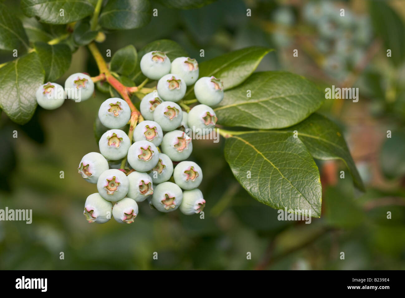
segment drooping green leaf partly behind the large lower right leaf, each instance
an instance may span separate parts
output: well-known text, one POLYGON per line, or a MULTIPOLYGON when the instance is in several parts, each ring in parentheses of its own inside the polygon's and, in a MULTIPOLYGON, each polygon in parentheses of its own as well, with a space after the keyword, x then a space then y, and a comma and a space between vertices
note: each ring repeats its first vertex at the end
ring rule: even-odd
POLYGON ((364 191, 364 184, 347 148, 339 126, 325 116, 312 114, 303 122, 283 130, 293 134, 298 132, 298 138, 307 146, 311 155, 320 160, 341 159, 350 170, 354 184, 364 191))

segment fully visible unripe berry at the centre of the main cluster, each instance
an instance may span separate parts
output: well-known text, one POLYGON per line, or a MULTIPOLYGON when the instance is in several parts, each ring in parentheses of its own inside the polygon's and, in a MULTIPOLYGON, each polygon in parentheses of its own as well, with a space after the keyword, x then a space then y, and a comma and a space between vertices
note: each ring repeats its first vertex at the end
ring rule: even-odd
POLYGON ((128 150, 128 163, 135 171, 150 171, 158 161, 158 148, 149 141, 136 141, 128 150))

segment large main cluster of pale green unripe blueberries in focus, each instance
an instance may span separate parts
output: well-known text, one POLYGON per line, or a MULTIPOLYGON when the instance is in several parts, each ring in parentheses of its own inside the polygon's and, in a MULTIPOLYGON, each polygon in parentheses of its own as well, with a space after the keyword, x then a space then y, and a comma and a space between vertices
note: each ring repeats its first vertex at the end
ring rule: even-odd
POLYGON ((109 221, 111 210, 117 222, 132 223, 138 203, 146 199, 161 212, 179 208, 184 214, 196 214, 205 206, 197 189, 203 172, 193 161, 186 161, 193 150, 186 130, 208 133, 213 129, 217 117, 209 105, 223 99, 222 81, 215 77, 198 79, 195 59, 179 57, 171 62, 160 51, 142 57, 141 71, 158 84, 157 90, 141 101, 145 120, 134 128, 134 143, 122 130, 131 118, 129 105, 120 98, 107 99, 98 111, 100 122, 109 129, 100 138, 100 153, 90 152, 79 163, 83 178, 97 184, 98 193, 85 202, 84 215, 90 223, 109 221), (194 83, 201 104, 187 113, 176 102, 194 83))

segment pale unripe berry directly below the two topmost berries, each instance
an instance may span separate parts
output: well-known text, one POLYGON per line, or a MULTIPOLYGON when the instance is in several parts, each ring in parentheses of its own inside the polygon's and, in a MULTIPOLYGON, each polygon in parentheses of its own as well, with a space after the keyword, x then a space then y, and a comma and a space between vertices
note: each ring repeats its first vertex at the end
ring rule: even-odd
POLYGON ((187 86, 185 81, 179 75, 169 73, 164 75, 158 81, 158 93, 165 101, 179 101, 185 95, 187 86))

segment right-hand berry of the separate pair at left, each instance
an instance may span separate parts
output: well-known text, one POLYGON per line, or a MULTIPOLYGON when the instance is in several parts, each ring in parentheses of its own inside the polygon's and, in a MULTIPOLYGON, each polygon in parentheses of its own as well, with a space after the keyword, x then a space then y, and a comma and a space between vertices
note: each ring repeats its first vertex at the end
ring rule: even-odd
POLYGON ((65 91, 68 98, 75 101, 86 101, 94 92, 92 78, 84 73, 74 73, 65 81, 65 91))

